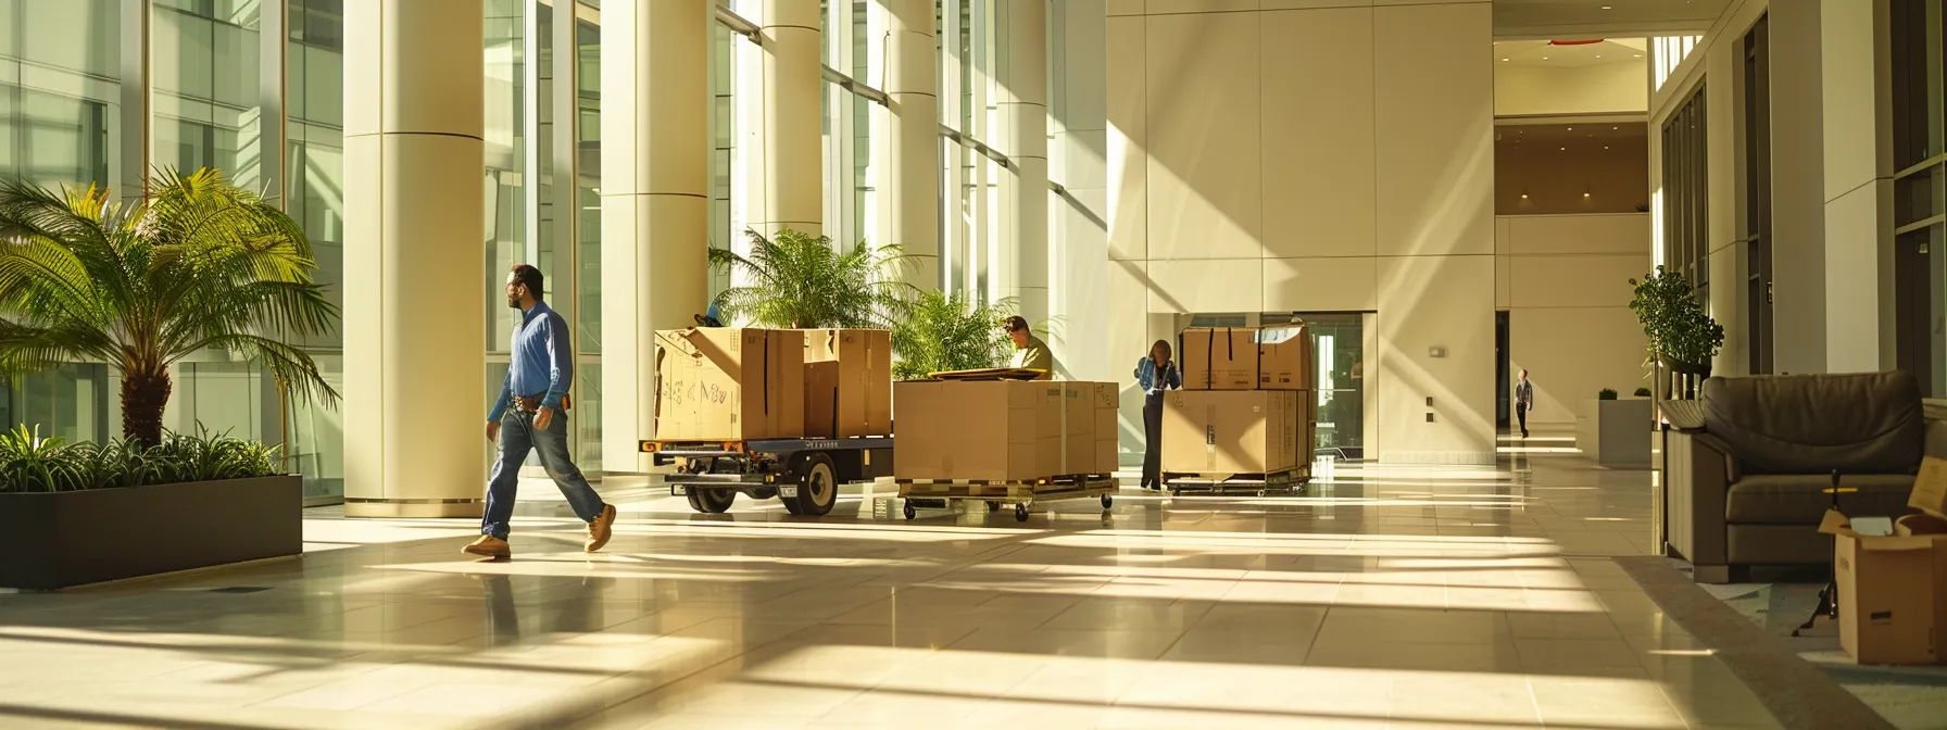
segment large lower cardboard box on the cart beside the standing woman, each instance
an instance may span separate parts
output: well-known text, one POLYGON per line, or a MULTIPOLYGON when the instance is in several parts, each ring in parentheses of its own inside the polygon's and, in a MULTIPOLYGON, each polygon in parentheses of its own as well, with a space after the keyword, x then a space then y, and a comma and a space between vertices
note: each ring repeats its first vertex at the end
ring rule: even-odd
POLYGON ((1170 391, 1162 471, 1273 473, 1299 465, 1297 391, 1170 391))

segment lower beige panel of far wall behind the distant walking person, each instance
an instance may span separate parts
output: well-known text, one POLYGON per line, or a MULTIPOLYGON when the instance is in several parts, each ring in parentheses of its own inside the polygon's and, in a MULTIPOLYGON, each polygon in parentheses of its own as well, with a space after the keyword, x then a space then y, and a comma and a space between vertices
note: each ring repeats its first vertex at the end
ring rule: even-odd
MULTIPOLYGON (((1630 397, 1643 378, 1643 327, 1630 308, 1523 310, 1507 313, 1509 376, 1528 370, 1536 424, 1573 428, 1583 401, 1614 387, 1630 397)), ((1645 422, 1643 428, 1649 428, 1645 422)))

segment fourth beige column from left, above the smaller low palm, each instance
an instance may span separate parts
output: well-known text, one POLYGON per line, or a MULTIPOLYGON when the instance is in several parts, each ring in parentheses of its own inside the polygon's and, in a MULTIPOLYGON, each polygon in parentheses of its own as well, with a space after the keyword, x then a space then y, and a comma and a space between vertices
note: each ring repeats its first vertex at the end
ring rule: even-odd
POLYGON ((872 134, 886 195, 880 239, 911 257, 907 282, 940 288, 940 97, 933 0, 886 0, 890 130, 872 134))

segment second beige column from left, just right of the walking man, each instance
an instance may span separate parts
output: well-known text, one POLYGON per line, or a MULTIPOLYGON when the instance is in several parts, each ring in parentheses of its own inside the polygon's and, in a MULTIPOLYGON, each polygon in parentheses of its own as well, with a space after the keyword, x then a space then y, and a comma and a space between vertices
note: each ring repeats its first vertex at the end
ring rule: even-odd
POLYGON ((648 471, 637 442, 654 428, 656 329, 707 308, 711 8, 602 8, 604 471, 648 471))

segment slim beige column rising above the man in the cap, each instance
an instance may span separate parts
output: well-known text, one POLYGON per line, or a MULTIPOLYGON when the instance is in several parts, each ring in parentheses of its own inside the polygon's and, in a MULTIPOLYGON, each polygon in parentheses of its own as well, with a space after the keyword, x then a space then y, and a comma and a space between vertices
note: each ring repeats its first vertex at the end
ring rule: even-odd
POLYGON ((1020 300, 1028 323, 1047 319, 1047 0, 997 0, 999 125, 1012 160, 1001 177, 1001 251, 995 284, 1020 300))

